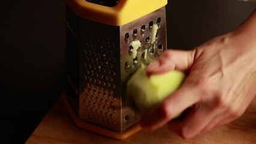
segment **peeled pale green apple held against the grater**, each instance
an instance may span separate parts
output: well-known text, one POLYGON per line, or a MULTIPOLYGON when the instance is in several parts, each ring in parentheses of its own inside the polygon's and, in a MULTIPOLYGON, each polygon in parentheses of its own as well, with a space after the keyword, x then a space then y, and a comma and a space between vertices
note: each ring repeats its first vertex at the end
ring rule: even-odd
POLYGON ((182 71, 171 70, 148 76, 145 67, 139 68, 127 82, 126 98, 135 104, 139 113, 144 113, 159 104, 178 89, 186 79, 182 71))

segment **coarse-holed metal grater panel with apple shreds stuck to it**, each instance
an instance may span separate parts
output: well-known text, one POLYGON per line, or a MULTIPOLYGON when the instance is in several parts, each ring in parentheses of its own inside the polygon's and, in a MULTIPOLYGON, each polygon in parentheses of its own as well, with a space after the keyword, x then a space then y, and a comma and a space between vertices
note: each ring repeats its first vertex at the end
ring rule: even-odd
MULTIPOLYGON (((153 41, 152 41, 153 42, 153 41)), ((166 44, 166 15, 165 7, 147 14, 133 22, 120 27, 120 71, 121 71, 121 94, 122 94, 122 125, 125 130, 139 121, 139 115, 131 103, 125 98, 126 83, 130 76, 141 67, 141 64, 149 64, 154 61, 163 50, 167 49, 166 44), (156 41, 151 43, 153 38, 152 28, 156 24, 156 41), (129 35, 129 37, 127 37, 129 35), (136 50, 131 47, 132 41, 140 41, 141 47, 136 50), (135 58, 134 58, 135 57, 135 58)))

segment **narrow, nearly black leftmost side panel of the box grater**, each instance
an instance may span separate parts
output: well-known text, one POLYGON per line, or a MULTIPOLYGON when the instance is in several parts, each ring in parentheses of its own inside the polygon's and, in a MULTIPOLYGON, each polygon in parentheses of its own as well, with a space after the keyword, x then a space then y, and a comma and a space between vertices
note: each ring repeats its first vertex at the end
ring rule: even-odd
POLYGON ((79 17, 66 5, 66 93, 73 110, 79 110, 79 17))

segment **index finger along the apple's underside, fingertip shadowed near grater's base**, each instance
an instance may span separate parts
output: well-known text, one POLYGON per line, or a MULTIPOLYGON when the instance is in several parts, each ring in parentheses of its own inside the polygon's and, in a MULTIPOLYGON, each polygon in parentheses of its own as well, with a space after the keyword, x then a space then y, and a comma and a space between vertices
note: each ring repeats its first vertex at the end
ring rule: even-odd
POLYGON ((167 97, 159 106, 142 116, 140 124, 144 130, 155 130, 165 125, 168 121, 175 118, 187 107, 192 106, 199 100, 194 97, 195 91, 187 86, 181 86, 169 97, 167 97))

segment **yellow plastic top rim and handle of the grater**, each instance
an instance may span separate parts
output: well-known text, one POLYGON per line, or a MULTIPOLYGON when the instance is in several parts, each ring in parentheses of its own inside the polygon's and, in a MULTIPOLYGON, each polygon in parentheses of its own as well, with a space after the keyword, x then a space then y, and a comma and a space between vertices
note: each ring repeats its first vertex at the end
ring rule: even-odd
POLYGON ((120 0, 114 7, 93 4, 85 0, 66 0, 66 3, 80 17, 108 25, 121 26, 164 7, 167 1, 120 0))

